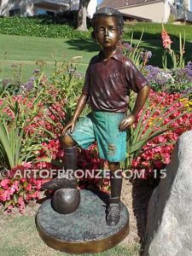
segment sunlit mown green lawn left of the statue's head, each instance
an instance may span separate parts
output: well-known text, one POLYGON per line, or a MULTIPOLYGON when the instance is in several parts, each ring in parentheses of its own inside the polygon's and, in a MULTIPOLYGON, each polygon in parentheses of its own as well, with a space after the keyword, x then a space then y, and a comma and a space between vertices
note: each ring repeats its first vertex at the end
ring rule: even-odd
POLYGON ((14 69, 21 67, 21 79, 26 81, 37 67, 36 61, 45 61, 45 72, 50 74, 54 70, 55 59, 70 60, 77 55, 82 56, 78 70, 84 73, 91 56, 98 51, 98 46, 84 41, 81 49, 74 46, 75 40, 72 41, 68 42, 67 39, 62 38, 0 35, 0 77, 13 77, 14 69))

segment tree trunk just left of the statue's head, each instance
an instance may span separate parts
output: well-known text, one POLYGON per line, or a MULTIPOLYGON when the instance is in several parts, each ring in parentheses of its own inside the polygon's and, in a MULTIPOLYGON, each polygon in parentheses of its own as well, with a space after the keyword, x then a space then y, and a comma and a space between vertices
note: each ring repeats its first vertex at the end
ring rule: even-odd
POLYGON ((87 7, 90 0, 79 0, 77 30, 87 31, 87 7))

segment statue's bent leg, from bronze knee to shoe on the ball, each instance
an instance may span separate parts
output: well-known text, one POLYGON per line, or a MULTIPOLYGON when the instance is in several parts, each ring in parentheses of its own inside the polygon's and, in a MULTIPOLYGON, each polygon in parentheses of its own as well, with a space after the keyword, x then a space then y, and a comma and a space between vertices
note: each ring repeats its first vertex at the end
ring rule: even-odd
POLYGON ((44 183, 44 189, 75 189, 77 187, 77 180, 74 177, 74 172, 77 169, 77 148, 73 138, 65 135, 61 138, 62 148, 65 153, 64 166, 67 171, 66 177, 56 177, 55 179, 44 183))

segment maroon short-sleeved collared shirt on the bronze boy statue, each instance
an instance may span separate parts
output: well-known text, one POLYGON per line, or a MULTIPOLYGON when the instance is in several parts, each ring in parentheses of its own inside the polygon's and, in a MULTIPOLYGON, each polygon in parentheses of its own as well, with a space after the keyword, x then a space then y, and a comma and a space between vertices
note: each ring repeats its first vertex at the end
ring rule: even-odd
POLYGON ((90 60, 82 93, 89 95, 92 110, 126 112, 130 90, 138 92, 146 84, 147 79, 121 52, 108 61, 100 53, 90 60))

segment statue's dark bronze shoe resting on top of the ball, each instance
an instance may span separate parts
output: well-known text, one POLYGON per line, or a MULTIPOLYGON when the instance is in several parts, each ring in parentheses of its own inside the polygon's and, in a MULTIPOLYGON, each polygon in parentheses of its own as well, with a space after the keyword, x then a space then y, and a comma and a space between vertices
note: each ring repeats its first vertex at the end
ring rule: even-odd
POLYGON ((78 182, 76 178, 67 178, 67 177, 55 177, 55 179, 50 180, 47 183, 42 185, 43 189, 76 189, 78 182))

